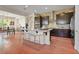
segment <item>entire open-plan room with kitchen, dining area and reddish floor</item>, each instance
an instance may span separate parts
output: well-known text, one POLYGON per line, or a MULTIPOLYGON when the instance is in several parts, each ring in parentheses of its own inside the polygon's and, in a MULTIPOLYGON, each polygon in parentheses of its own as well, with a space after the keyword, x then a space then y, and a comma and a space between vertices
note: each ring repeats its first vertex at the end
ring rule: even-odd
POLYGON ((79 6, 0 5, 0 54, 78 54, 79 6))

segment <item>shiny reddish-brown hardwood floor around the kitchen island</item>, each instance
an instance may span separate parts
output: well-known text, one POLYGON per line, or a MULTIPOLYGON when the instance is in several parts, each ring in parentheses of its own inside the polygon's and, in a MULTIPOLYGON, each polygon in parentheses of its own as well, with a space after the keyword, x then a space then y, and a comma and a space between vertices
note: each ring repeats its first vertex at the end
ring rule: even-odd
POLYGON ((0 49, 1 54, 77 54, 73 47, 73 39, 51 36, 51 45, 39 45, 23 40, 23 35, 17 32, 9 35, 0 49))

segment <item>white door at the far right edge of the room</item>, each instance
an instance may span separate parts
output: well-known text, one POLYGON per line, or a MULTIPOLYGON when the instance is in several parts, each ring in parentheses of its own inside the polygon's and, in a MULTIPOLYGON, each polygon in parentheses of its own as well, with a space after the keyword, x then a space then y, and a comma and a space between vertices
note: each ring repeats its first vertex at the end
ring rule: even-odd
POLYGON ((75 6, 75 49, 79 51, 79 6, 75 6))

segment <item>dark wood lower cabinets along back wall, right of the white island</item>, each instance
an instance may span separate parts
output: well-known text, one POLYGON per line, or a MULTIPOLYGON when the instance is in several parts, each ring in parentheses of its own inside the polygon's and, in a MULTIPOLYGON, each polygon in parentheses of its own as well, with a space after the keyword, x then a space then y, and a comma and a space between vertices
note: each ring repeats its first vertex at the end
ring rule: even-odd
POLYGON ((58 37, 71 37, 71 30, 70 29, 53 29, 50 31, 51 36, 58 36, 58 37))

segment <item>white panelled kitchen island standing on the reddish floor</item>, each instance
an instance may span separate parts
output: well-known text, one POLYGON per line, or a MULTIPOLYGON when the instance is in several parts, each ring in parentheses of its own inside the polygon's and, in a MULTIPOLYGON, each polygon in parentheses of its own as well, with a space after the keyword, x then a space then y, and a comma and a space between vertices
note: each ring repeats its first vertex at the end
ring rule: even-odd
POLYGON ((38 44, 50 45, 50 30, 28 30, 24 31, 24 39, 38 44))

